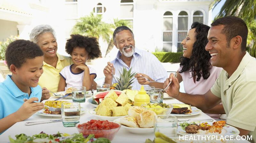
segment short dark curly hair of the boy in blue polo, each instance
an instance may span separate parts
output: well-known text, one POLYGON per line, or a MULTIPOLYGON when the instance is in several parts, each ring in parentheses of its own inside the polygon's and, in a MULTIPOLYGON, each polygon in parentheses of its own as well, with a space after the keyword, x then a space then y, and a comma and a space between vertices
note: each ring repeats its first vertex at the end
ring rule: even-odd
POLYGON ((13 64, 20 68, 27 59, 44 56, 41 48, 29 40, 15 40, 10 43, 5 51, 5 60, 8 68, 13 64))

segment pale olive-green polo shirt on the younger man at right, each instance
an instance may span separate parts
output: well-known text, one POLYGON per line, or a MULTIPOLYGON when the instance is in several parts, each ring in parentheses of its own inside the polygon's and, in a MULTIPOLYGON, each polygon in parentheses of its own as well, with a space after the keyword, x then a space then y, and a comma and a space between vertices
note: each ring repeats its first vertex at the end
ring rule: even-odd
POLYGON ((256 142, 256 60, 248 52, 229 77, 225 70, 211 88, 221 98, 227 114, 227 124, 251 131, 256 142))

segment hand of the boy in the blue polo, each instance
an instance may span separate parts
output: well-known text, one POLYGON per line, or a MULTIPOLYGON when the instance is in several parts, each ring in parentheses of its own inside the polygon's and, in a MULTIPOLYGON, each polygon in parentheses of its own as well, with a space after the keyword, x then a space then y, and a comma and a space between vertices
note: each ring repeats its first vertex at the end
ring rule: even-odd
POLYGON ((38 98, 33 97, 28 99, 26 102, 22 104, 18 111, 15 112, 15 116, 18 121, 23 121, 32 116, 34 113, 42 110, 44 108, 44 103, 35 102, 38 101, 38 98))

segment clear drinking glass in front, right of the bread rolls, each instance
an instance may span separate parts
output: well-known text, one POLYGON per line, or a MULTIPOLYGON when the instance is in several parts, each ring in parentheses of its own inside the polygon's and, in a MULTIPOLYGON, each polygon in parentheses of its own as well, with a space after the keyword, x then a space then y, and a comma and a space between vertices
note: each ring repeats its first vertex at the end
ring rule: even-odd
POLYGON ((177 117, 172 115, 157 115, 155 118, 155 133, 160 132, 169 138, 175 138, 177 136, 177 117))

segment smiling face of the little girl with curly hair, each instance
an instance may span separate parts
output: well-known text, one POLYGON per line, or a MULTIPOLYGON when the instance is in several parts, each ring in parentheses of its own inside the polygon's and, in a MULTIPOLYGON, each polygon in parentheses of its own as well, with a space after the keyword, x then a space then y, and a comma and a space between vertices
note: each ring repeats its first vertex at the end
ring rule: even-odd
POLYGON ((85 50, 85 48, 75 47, 72 51, 72 61, 74 65, 85 64, 87 59, 89 58, 89 53, 85 50))

